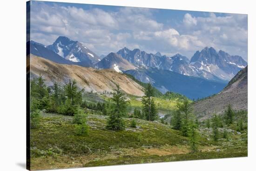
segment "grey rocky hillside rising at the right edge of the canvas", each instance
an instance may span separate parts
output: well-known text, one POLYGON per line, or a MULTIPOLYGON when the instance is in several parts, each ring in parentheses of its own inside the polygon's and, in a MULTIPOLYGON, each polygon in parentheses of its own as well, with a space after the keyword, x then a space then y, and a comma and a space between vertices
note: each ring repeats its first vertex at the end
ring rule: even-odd
POLYGON ((202 120, 209 118, 213 113, 223 114, 228 104, 235 110, 248 109, 248 78, 247 66, 238 72, 229 81, 222 92, 208 99, 197 101, 193 104, 195 114, 202 120))

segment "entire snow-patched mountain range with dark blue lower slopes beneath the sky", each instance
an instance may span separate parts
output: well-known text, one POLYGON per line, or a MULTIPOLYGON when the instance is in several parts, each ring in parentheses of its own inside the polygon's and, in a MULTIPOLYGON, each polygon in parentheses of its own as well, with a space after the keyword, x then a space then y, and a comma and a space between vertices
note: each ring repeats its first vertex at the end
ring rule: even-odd
POLYGON ((30 44, 31 54, 55 63, 100 70, 113 69, 131 74, 141 82, 150 82, 163 93, 179 92, 190 99, 207 97, 221 91, 237 72, 247 66, 242 57, 229 55, 222 50, 217 52, 213 47, 196 51, 189 60, 181 54, 168 57, 160 52, 146 53, 127 47, 117 53, 99 57, 81 42, 64 36, 58 37, 48 46, 33 40, 27 43, 30 44))

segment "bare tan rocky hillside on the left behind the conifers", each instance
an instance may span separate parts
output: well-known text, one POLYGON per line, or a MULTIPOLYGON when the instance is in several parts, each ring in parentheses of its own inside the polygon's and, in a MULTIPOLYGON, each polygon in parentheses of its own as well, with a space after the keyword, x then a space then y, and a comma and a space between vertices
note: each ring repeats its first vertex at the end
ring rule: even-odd
POLYGON ((141 85, 126 75, 110 69, 96 70, 90 67, 57 64, 31 55, 30 72, 31 78, 38 77, 40 74, 43 75, 48 85, 53 85, 54 81, 63 85, 68 79, 75 79, 80 88, 85 88, 86 92, 112 92, 115 84, 119 84, 121 89, 127 94, 143 95, 141 85))

